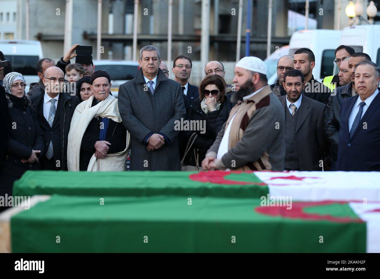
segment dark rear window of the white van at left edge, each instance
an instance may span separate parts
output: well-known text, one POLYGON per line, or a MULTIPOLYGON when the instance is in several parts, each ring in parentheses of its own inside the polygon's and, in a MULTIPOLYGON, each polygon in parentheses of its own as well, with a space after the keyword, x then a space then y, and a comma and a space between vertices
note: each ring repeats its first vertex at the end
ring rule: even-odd
POLYGON ((21 73, 23 76, 36 76, 36 64, 40 57, 38 55, 6 55, 5 60, 11 61, 10 67, 4 68, 4 74, 11 72, 21 73))

